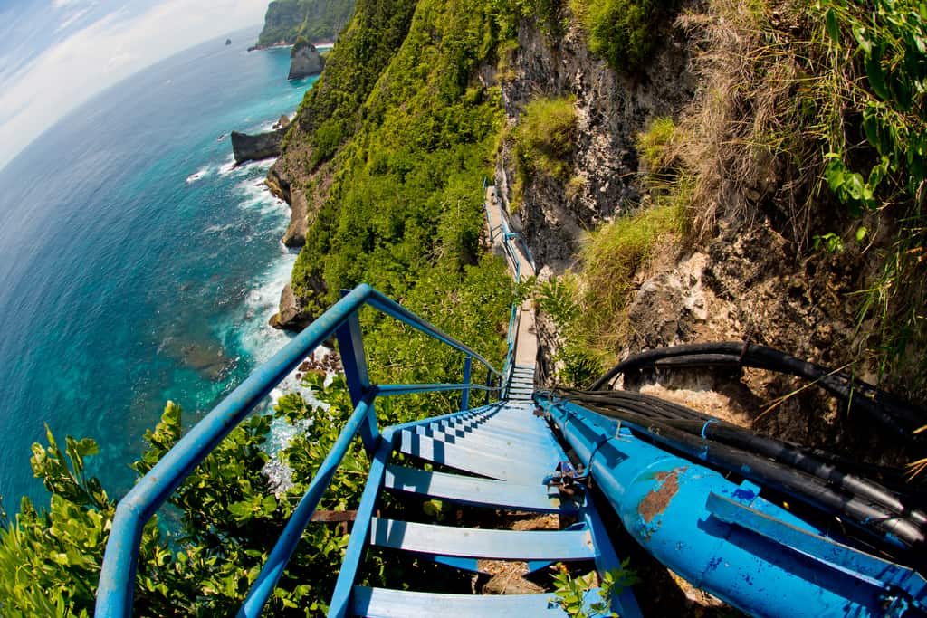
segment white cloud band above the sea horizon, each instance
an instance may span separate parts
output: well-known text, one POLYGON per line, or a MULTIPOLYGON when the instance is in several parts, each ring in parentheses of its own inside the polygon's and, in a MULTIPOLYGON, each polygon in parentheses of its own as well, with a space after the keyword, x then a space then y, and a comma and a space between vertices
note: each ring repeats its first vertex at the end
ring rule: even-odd
POLYGON ((0 169, 104 88, 201 41, 260 24, 266 9, 267 0, 167 0, 131 17, 125 9, 111 13, 45 50, 0 81, 0 169))

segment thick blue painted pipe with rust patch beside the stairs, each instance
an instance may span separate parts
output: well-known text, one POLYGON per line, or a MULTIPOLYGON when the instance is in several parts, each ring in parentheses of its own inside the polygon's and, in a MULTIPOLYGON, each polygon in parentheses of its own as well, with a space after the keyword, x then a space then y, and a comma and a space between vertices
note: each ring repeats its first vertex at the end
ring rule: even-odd
POLYGON ((901 616, 923 608, 920 575, 899 567, 908 577, 899 590, 890 568, 898 565, 822 536, 759 497, 758 487, 735 485, 577 404, 536 399, 629 534, 692 585, 756 616, 901 616), (812 543, 791 542, 803 538, 816 539, 830 553, 816 555, 808 551, 812 543), (850 555, 883 563, 891 577, 848 568, 852 561, 840 557, 850 555))

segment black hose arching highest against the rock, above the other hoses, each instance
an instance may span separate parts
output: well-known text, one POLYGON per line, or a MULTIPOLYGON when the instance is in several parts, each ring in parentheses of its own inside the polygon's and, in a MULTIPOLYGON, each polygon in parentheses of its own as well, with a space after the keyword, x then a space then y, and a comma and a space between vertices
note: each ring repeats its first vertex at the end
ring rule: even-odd
POLYGON ((833 372, 806 360, 796 359, 771 347, 740 342, 690 344, 641 352, 613 367, 596 380, 590 391, 607 385, 619 373, 645 367, 751 367, 788 373, 814 381, 832 395, 840 397, 850 408, 863 410, 906 440, 916 440, 913 432, 927 424, 927 413, 908 406, 876 386, 844 372, 833 372))

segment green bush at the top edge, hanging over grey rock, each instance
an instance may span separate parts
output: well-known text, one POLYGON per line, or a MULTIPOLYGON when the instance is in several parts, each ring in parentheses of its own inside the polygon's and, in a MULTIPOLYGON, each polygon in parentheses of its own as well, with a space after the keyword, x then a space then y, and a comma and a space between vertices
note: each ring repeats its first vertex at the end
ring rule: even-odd
POLYGON ((672 5, 669 0, 572 0, 571 6, 589 32, 592 52, 630 73, 654 51, 657 27, 672 5))

